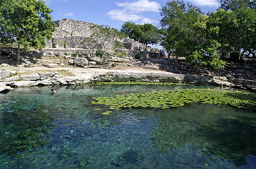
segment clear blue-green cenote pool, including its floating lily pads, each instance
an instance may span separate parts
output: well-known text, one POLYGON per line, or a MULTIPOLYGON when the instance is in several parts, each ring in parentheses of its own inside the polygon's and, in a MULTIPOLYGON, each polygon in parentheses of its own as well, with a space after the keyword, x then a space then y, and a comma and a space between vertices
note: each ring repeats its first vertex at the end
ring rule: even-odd
POLYGON ((161 83, 0 94, 2 168, 256 168, 256 97, 161 83))

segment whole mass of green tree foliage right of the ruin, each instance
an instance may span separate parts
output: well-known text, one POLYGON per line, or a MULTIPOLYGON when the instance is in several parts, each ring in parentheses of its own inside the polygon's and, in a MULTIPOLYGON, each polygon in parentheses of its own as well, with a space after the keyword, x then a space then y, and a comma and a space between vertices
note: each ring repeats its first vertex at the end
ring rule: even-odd
POLYGON ((230 52, 240 53, 240 60, 244 53, 255 56, 256 11, 252 8, 256 1, 221 2, 222 7, 208 16, 199 8, 179 1, 167 2, 162 7, 161 45, 174 50, 176 62, 177 57, 183 55, 187 62, 220 69, 230 52))

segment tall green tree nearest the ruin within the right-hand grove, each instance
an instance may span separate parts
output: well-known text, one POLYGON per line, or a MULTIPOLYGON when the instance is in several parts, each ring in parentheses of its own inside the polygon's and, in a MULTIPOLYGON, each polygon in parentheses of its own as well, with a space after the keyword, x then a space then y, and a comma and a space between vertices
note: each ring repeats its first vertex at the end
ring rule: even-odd
POLYGON ((184 2, 167 2, 162 7, 160 20, 163 39, 161 45, 167 50, 174 50, 175 62, 180 55, 187 56, 195 50, 197 33, 194 30, 194 23, 202 15, 202 11, 193 5, 184 2))

